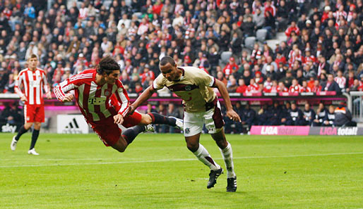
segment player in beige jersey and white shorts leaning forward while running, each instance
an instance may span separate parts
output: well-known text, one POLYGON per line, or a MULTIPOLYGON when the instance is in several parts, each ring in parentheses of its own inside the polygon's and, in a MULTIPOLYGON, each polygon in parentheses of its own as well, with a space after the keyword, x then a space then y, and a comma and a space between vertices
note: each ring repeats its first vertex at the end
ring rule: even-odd
POLYGON ((153 93, 167 87, 182 98, 184 105, 184 137, 186 146, 194 155, 210 168, 207 188, 212 188, 223 169, 209 155, 206 148, 199 144, 203 125, 206 125, 215 143, 220 148, 227 167, 227 191, 236 191, 237 177, 234 173, 231 144, 225 139, 224 121, 220 103, 212 88, 218 88, 227 108, 227 117, 241 122, 239 115, 232 109, 230 96, 225 84, 211 77, 203 70, 194 67, 178 67, 173 58, 165 56, 160 61, 162 72, 143 94, 131 105, 130 113, 148 100, 153 93))

